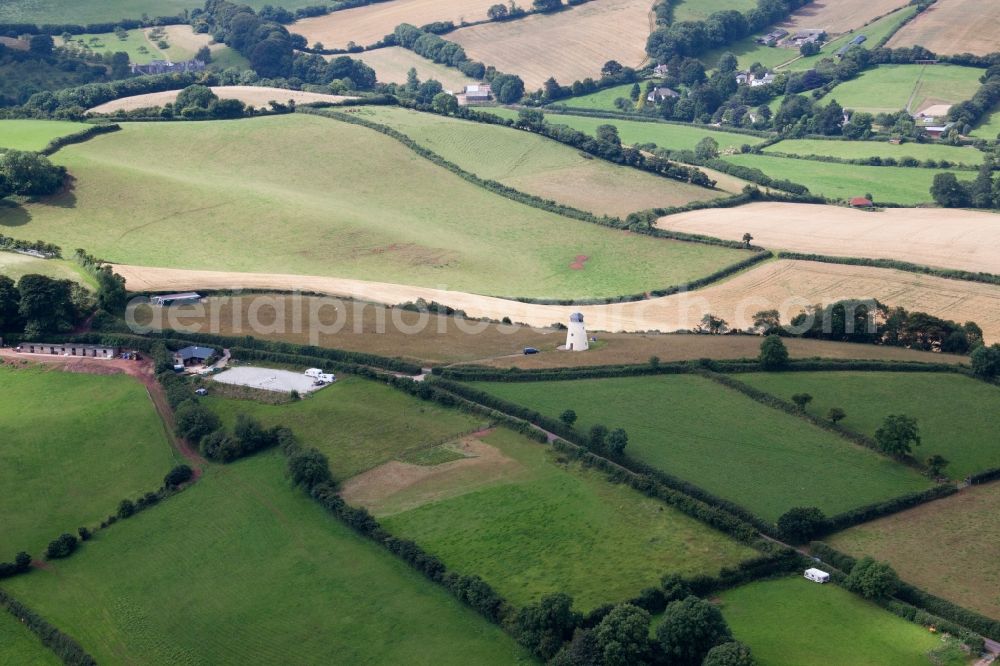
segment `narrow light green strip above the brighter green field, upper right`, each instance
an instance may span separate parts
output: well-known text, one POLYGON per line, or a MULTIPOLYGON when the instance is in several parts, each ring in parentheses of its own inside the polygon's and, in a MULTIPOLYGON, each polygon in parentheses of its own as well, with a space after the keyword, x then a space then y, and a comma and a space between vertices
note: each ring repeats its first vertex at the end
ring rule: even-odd
POLYGON ((892 157, 899 160, 912 157, 924 160, 949 160, 954 164, 978 166, 986 153, 975 148, 960 148, 937 143, 905 143, 894 145, 884 141, 824 141, 822 139, 786 139, 764 149, 765 153, 793 155, 828 155, 843 159, 892 157))

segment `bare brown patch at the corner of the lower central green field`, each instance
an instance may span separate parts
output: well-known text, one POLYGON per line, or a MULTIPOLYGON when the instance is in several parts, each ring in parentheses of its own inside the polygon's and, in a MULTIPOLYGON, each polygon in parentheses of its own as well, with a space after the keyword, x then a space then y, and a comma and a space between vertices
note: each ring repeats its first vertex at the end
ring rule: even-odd
POLYGON ((479 439, 489 432, 455 442, 453 449, 465 456, 461 460, 440 465, 393 460, 349 479, 340 495, 349 504, 386 515, 509 479, 522 465, 479 439))

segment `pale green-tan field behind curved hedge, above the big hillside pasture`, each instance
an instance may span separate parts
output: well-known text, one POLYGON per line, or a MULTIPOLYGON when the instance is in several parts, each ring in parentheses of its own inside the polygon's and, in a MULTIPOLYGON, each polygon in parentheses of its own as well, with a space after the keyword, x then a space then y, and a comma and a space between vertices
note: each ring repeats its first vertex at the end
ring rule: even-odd
POLYGON ((683 206, 725 193, 655 176, 587 155, 529 132, 428 113, 362 109, 480 178, 597 215, 625 217, 648 208, 683 206))

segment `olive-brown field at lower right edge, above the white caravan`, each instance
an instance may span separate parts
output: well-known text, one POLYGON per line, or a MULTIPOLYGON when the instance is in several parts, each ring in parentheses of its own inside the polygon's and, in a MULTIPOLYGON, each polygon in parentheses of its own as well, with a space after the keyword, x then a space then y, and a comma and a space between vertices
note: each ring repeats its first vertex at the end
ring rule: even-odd
POLYGON ((888 560, 903 580, 988 617, 1000 617, 1000 483, 853 527, 827 539, 843 552, 888 560))

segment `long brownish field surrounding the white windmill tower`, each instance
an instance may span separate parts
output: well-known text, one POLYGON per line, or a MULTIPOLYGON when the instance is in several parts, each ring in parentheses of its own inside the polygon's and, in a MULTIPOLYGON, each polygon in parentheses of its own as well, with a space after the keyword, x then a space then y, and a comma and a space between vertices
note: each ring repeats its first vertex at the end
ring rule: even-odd
MULTIPOLYGON (((423 366, 477 363, 495 367, 550 368, 645 363, 699 358, 750 358, 760 338, 744 335, 602 333, 586 354, 555 353, 565 331, 504 324, 482 325, 445 315, 422 314, 376 303, 320 296, 247 294, 216 296, 195 305, 139 306, 135 319, 156 330, 174 328, 227 336, 345 349, 399 357, 423 366), (524 355, 524 347, 543 353, 524 355), (551 353, 550 353, 551 352, 551 353)), ((785 341, 793 358, 857 358, 961 363, 968 359, 900 347, 825 340, 785 341)))

